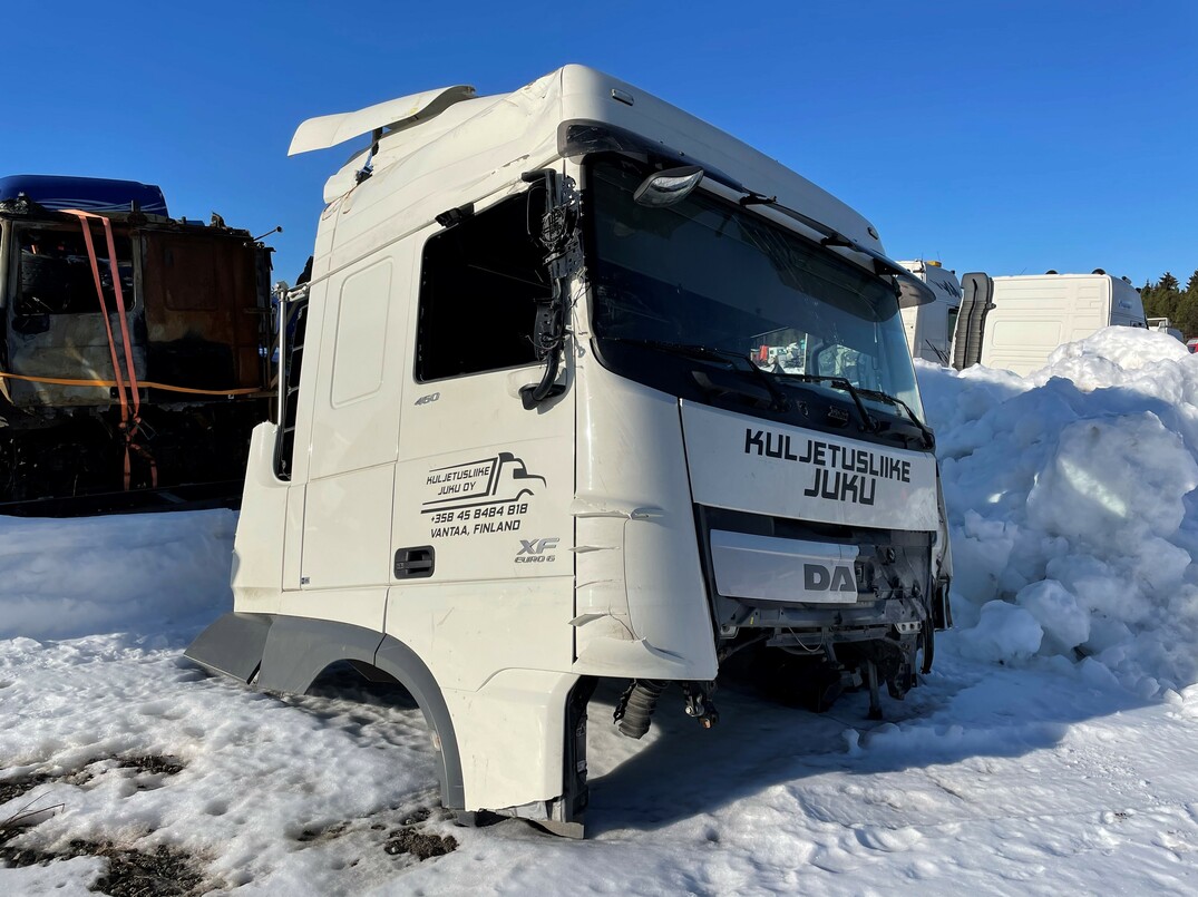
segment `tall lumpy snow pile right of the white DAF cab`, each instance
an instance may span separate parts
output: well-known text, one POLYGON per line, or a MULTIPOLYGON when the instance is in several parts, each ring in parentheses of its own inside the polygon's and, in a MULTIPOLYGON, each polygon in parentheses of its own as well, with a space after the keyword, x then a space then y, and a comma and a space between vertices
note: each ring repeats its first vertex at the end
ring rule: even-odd
POLYGON ((1027 378, 916 364, 952 537, 950 644, 1093 659, 1144 697, 1198 681, 1198 357, 1111 327, 1027 378))

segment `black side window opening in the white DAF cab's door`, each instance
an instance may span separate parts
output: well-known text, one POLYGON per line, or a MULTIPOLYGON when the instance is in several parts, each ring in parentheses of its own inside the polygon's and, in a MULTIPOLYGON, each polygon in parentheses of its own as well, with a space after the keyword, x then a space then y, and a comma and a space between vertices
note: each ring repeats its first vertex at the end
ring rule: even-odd
POLYGON ((544 249, 512 196, 429 238, 420 268, 416 378, 537 363, 537 301, 551 295, 544 249))

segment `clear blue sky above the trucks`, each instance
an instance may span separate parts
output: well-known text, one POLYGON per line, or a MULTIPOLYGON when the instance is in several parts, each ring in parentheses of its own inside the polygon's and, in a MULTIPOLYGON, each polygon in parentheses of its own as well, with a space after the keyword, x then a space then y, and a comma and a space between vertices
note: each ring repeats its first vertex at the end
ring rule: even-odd
POLYGON ((157 183, 176 216, 310 253, 352 144, 296 125, 565 62, 830 190, 895 257, 958 273, 1198 267, 1198 2, 6 4, 0 174, 157 183))

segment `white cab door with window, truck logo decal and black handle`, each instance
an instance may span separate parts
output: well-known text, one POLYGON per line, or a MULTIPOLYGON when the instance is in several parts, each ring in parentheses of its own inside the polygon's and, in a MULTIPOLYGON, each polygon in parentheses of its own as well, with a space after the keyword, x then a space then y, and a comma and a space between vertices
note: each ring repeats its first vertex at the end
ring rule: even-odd
POLYGON ((533 331, 551 295, 526 222, 509 196, 430 228, 419 250, 387 631, 453 654, 449 687, 573 661, 574 390, 567 366, 564 392, 521 398, 544 371, 533 331))

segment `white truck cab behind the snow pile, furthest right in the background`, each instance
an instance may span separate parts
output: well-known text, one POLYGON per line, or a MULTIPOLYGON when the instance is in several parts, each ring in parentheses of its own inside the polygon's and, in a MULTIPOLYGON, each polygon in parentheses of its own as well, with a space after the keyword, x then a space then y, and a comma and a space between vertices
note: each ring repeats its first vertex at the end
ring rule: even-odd
POLYGON ((1103 327, 1146 327, 1139 291, 1102 271, 1091 274, 966 274, 954 364, 985 364, 1019 375, 1053 350, 1103 327), (970 329, 970 321, 973 327, 970 329))

